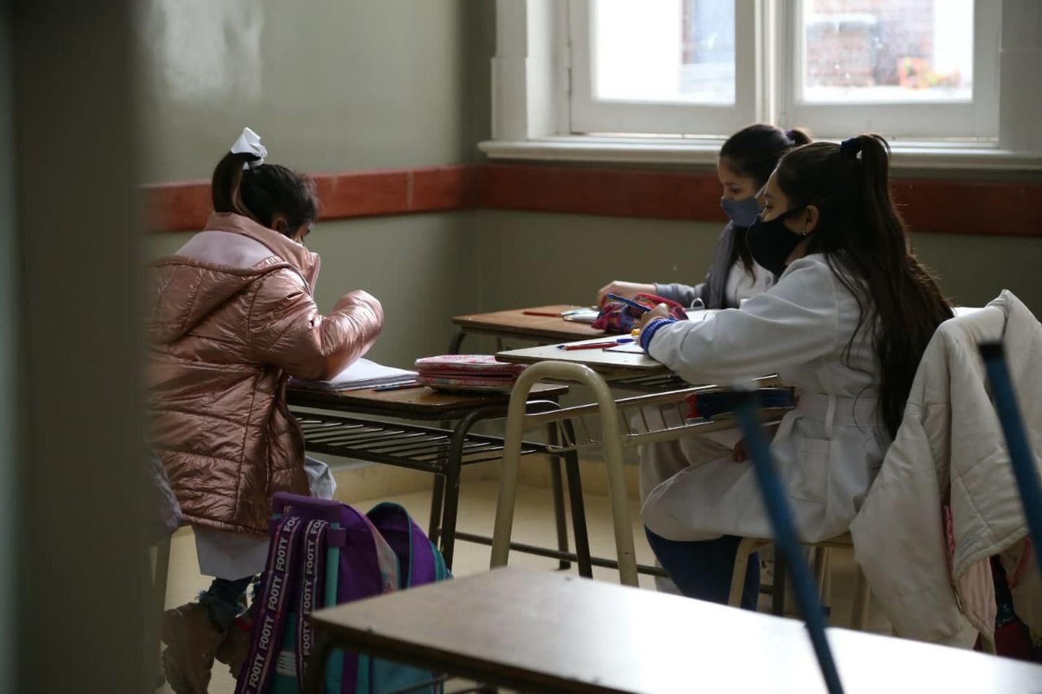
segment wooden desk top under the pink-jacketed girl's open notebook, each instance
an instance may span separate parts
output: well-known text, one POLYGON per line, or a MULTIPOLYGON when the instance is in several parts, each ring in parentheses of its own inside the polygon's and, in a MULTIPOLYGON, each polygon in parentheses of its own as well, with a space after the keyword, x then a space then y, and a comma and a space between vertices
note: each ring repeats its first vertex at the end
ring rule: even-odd
MULTIPOLYGON (((553 400, 567 392, 566 385, 540 383, 531 389, 529 400, 553 400)), ((510 393, 448 393, 426 386, 382 391, 287 388, 286 399, 297 407, 438 419, 455 418, 482 407, 505 408, 510 393)))

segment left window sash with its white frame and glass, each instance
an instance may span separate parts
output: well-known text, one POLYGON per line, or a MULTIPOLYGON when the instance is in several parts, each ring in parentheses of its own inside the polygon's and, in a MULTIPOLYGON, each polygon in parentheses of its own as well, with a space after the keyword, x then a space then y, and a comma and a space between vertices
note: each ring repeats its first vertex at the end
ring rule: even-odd
POLYGON ((755 119, 755 6, 569 2, 572 132, 715 134, 755 119), (741 79, 739 78, 741 76, 741 79))

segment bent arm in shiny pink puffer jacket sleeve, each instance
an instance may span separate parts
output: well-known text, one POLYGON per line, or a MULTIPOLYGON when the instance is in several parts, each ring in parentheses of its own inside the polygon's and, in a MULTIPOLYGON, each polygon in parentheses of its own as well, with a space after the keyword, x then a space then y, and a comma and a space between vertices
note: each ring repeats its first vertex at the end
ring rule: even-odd
POLYGON ((369 351, 383 327, 383 309, 368 292, 351 291, 322 315, 296 273, 276 271, 259 282, 248 330, 254 356, 291 376, 337 376, 369 351))

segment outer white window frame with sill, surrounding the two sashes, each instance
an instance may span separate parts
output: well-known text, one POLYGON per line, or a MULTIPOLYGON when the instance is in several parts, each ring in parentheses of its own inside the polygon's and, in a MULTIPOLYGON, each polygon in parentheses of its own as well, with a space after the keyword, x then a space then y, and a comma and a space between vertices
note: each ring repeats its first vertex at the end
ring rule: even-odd
MULTIPOLYGON (((768 6, 779 0, 748 0, 768 6)), ((992 0, 983 0, 992 2, 992 0)), ((893 165, 915 170, 1042 171, 1042 3, 995 0, 1001 4, 998 79, 998 138, 962 140, 891 138, 893 165)), ((765 12, 761 74, 786 69, 776 60, 780 42, 771 42, 776 12, 765 12), (775 58, 775 59, 772 59, 775 58)), ((569 7, 562 0, 497 0, 496 54, 492 60, 492 138, 479 149, 493 159, 688 164, 713 163, 723 138, 715 136, 629 136, 573 134, 569 7)), ((779 122, 771 108, 774 78, 761 80, 761 119, 779 122)), ((735 128, 730 128, 734 130, 735 128)), ((829 139, 823 132, 818 139, 829 139)), ((841 133, 839 136, 845 136, 841 133)))

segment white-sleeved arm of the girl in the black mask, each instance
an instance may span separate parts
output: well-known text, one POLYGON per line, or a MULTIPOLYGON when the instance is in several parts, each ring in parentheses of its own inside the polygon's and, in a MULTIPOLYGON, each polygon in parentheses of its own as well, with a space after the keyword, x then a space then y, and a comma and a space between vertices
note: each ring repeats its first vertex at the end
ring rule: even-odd
POLYGON ((663 326, 648 353, 689 383, 721 383, 809 362, 834 352, 838 341, 832 271, 820 260, 802 259, 741 309, 663 326))

